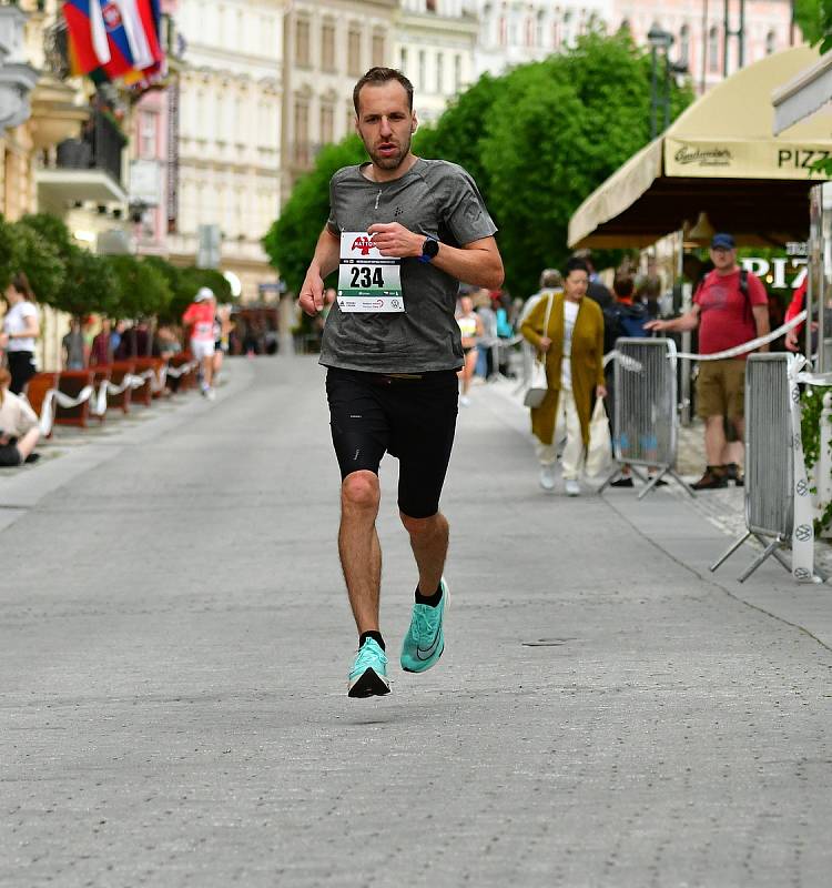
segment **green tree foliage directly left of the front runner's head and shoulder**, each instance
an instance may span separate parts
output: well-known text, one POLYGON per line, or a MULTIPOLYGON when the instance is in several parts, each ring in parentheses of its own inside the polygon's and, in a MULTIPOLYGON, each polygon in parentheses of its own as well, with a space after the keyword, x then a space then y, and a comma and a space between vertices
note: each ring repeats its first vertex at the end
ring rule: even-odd
POLYGON ((263 238, 263 249, 293 293, 301 289, 329 213, 329 179, 342 167, 366 159, 357 135, 324 148, 315 159, 314 169, 298 180, 280 219, 263 238))

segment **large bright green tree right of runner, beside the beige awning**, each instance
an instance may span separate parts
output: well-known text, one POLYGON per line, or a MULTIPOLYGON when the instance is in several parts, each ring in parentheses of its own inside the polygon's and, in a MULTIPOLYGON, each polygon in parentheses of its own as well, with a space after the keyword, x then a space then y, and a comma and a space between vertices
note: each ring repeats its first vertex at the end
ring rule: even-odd
MULTIPOLYGON (((513 292, 562 264, 571 214, 649 141, 650 64, 627 34, 592 33, 506 75, 479 150, 513 292)), ((671 84, 671 119, 691 100, 671 84)))

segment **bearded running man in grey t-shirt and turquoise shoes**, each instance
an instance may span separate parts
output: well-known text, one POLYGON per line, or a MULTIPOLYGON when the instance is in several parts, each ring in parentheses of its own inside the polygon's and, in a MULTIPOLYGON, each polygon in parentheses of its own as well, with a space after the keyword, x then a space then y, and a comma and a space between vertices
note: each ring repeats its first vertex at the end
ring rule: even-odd
POLYGON ((400 663, 429 669, 443 653, 448 523, 439 495, 454 443, 458 282, 503 284, 496 226, 474 180, 453 163, 416 158, 413 84, 372 68, 353 91, 356 130, 369 163, 329 183, 329 220, 301 287, 301 306, 324 309, 323 279, 338 270, 321 363, 341 466, 338 553, 358 629, 351 697, 387 694, 378 623, 382 549, 376 533, 378 465, 398 457, 398 508, 418 569, 400 663))

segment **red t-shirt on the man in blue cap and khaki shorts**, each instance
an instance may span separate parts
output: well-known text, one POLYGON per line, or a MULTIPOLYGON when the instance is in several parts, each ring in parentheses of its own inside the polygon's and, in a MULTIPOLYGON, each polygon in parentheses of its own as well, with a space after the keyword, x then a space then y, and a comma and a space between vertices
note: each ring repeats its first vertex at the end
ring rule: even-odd
POLYGON ((755 274, 748 275, 748 296, 740 292, 740 271, 710 272, 693 296, 699 305, 699 353, 733 349, 757 337, 752 305, 768 305, 769 295, 755 274))

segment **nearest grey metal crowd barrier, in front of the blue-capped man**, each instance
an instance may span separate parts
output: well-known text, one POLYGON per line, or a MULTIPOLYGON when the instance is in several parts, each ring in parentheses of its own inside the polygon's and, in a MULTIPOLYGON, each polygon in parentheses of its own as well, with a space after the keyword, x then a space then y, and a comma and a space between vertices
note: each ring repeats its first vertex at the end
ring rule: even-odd
POLYGON ((771 555, 797 578, 806 578, 799 576, 800 572, 793 569, 782 552, 794 538, 802 543, 813 539, 811 523, 794 526, 795 493, 809 495, 802 468, 800 477, 795 477, 795 463, 803 464, 800 412, 794 403, 799 397, 793 355, 749 356, 745 369, 747 532, 711 565, 711 571, 716 571, 747 539, 754 537, 763 551, 740 574, 740 583, 771 555))

